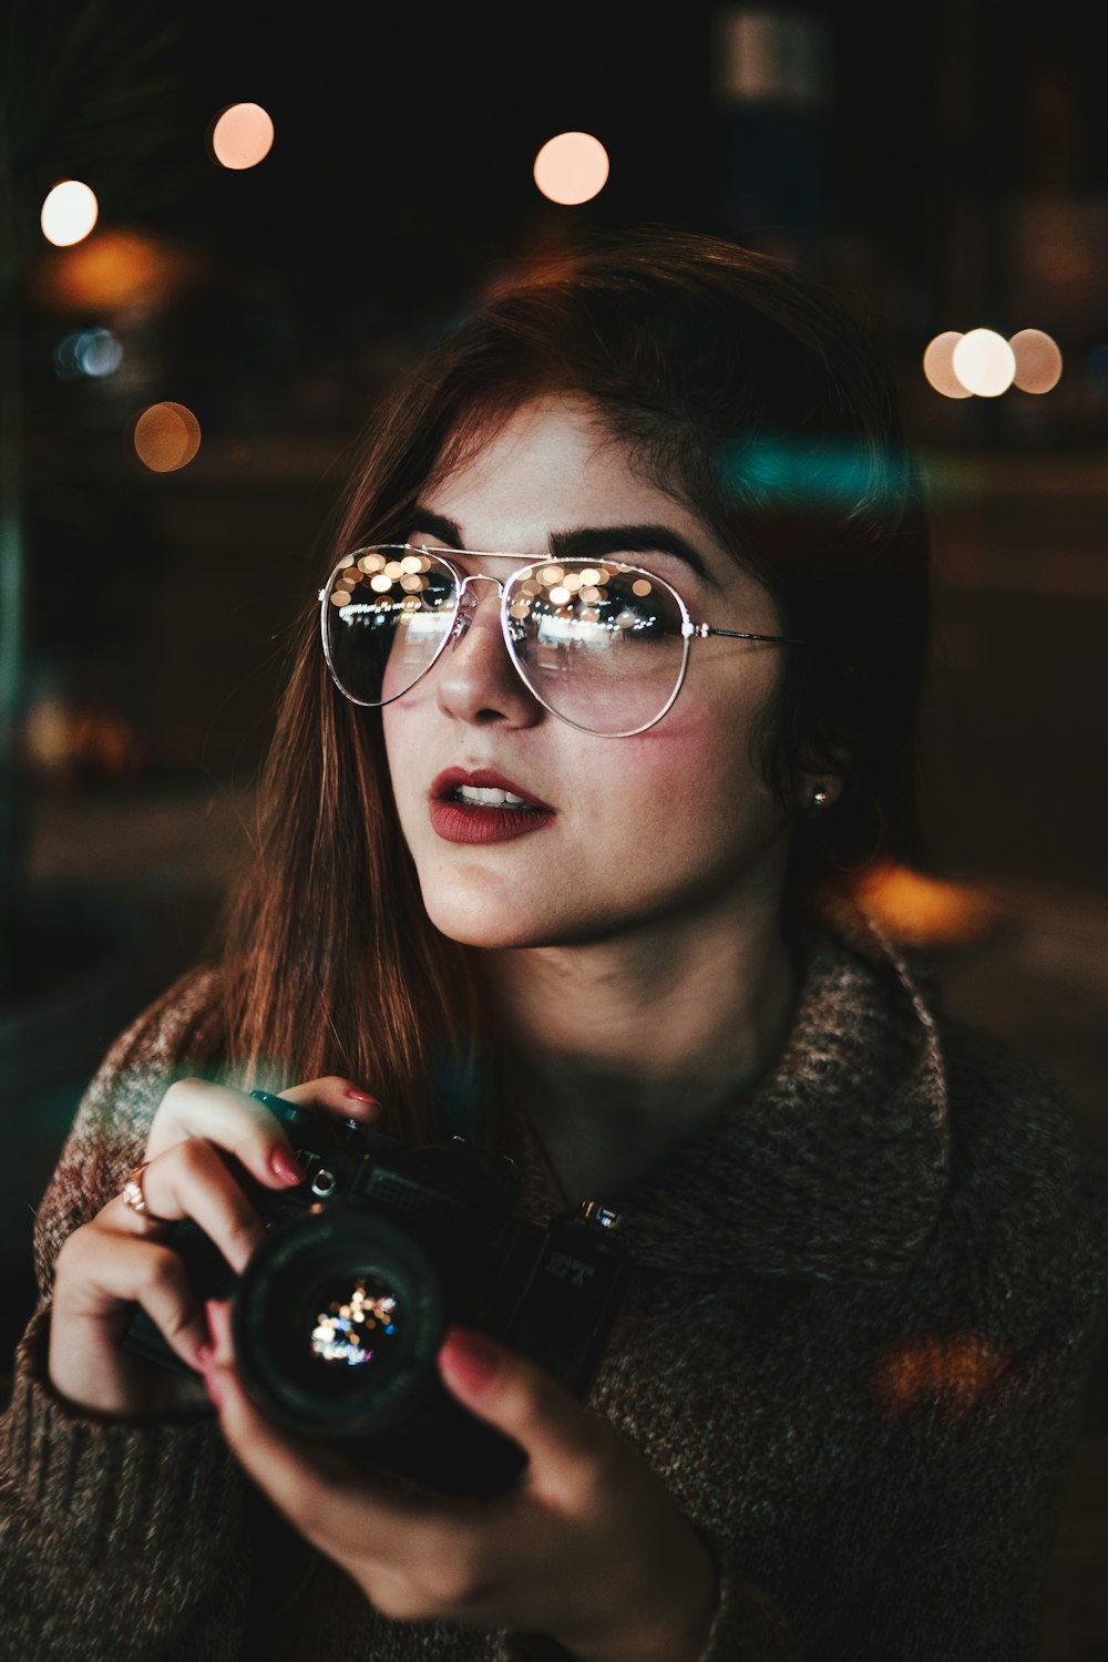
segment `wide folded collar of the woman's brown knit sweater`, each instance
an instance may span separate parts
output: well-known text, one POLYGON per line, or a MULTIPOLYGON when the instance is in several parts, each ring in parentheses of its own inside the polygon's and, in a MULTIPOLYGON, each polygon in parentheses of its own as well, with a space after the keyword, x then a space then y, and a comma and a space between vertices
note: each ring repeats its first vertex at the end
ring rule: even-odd
POLYGON ((922 977, 847 902, 827 902, 797 944, 772 1070, 613 1202, 646 1268, 874 1281, 937 1222, 947 1084, 922 977))

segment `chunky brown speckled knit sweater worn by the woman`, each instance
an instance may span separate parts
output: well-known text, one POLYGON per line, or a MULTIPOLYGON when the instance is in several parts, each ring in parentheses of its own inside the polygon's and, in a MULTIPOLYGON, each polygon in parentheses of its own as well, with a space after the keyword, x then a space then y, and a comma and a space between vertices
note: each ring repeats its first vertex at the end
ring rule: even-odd
MULTIPOLYGON (((713 1554, 701 1662, 1022 1662, 1108 1318, 1108 1168, 1050 1077, 949 1020, 872 926, 797 941, 777 1064, 620 1197, 638 1261, 588 1401, 713 1554)), ((186 977, 113 1045, 38 1210, 0 1657, 568 1657, 380 1615, 276 1526, 211 1413, 113 1423, 51 1391, 58 1248, 141 1158, 211 992, 186 977)), ((518 1212, 550 1217, 537 1157, 518 1212)))

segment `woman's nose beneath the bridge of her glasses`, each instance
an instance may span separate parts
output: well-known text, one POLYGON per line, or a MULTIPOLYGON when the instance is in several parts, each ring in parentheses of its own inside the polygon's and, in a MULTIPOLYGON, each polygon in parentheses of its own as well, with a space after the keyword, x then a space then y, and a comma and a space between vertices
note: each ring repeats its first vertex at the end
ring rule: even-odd
POLYGON ((435 665, 439 708, 458 721, 535 726, 545 710, 520 680, 500 628, 500 585, 470 578, 435 665))

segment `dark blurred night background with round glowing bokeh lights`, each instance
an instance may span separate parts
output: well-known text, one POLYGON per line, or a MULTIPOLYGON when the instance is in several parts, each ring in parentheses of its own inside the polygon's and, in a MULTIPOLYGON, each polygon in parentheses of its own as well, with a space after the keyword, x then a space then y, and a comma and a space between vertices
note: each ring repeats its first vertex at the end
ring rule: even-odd
MULTIPOLYGON (((874 896, 950 1007, 1042 1057, 1108 1150, 1088 8, 8 0, 0 28, 5 1351, 80 1092, 248 854, 284 652, 377 389, 507 263, 586 224, 781 254, 892 366, 935 530, 932 853, 874 896)), ((1100 1404, 1083 1449, 1108 1479, 1100 1404)), ((1052 1655, 1108 1654, 1100 1599, 1100 1649, 1052 1655)))

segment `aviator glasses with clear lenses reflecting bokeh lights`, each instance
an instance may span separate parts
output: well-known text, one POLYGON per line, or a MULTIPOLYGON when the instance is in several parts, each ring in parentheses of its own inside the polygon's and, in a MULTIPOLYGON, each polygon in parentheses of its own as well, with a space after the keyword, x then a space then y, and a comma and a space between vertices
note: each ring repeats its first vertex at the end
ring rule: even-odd
POLYGON ((452 550, 460 560, 515 560, 503 580, 457 570, 440 548, 374 543, 344 555, 319 590, 324 655, 355 705, 402 698, 458 642, 477 608, 473 583, 500 590, 500 630, 540 705, 583 733, 631 738, 661 721, 681 691, 693 640, 726 635, 802 647, 789 635, 693 623, 653 572, 603 560, 452 550))

